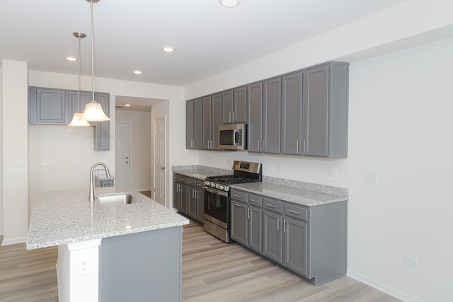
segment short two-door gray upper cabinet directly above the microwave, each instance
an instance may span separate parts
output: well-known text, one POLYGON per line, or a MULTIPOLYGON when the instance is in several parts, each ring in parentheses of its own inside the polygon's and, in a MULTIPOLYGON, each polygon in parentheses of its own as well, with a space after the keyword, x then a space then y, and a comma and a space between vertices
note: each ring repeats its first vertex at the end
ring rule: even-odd
POLYGON ((222 93, 222 124, 247 122, 246 86, 222 93))

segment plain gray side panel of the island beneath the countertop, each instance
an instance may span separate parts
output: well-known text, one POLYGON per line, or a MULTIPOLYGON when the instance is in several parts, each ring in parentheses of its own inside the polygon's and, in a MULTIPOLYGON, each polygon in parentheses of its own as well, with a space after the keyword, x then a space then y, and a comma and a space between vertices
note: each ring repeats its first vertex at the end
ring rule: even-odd
POLYGON ((99 301, 181 301, 182 226, 103 238, 99 301))

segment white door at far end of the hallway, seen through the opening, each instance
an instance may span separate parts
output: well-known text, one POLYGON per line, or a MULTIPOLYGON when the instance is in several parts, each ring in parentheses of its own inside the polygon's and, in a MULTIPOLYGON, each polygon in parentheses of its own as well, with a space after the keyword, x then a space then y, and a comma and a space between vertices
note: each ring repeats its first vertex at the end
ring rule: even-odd
POLYGON ((116 123, 115 186, 130 187, 130 123, 116 123))

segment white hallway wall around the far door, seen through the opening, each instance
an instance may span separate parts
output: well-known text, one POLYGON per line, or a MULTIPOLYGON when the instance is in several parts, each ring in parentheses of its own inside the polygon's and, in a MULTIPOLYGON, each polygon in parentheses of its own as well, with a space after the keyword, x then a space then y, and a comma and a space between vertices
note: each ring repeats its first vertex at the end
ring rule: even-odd
POLYGON ((116 110, 116 122, 130 123, 130 187, 151 190, 151 112, 116 110))

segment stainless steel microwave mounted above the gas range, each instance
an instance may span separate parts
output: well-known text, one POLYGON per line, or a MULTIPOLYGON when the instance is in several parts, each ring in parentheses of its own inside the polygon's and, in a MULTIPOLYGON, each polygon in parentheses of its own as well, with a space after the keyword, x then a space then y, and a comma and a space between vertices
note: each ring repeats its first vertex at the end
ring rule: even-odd
POLYGON ((247 150, 247 125, 222 124, 219 126, 219 148, 247 150))

